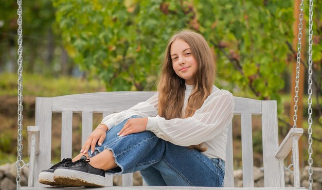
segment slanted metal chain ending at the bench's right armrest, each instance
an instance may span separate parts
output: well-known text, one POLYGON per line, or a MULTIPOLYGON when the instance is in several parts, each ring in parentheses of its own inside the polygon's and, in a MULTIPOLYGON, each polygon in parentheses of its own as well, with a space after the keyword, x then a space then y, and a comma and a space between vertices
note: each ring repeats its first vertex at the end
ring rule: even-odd
POLYGON ((302 24, 302 20, 303 20, 303 1, 301 1, 300 4, 300 14, 299 14, 299 24, 298 24, 298 34, 297 34, 297 38, 298 38, 298 42, 297 42, 297 59, 296 59, 296 78, 295 78, 295 96, 294 96, 294 116, 293 116, 293 128, 296 128, 296 121, 297 121, 297 101, 298 101, 298 90, 299 90, 299 80, 300 80, 300 61, 301 61, 301 40, 302 40, 302 28, 303 28, 303 24, 302 24))

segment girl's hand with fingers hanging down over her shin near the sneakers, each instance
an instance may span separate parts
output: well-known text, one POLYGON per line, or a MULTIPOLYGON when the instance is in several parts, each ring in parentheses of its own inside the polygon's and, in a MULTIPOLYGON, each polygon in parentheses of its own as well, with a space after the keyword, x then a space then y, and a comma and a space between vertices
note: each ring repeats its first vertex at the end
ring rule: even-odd
POLYGON ((91 146, 91 154, 94 153, 96 142, 99 146, 102 145, 102 142, 104 141, 106 137, 106 129, 109 129, 108 126, 105 124, 100 124, 97 126, 97 128, 92 132, 92 134, 87 138, 86 142, 82 146, 81 153, 87 153, 88 149, 90 149, 91 146))

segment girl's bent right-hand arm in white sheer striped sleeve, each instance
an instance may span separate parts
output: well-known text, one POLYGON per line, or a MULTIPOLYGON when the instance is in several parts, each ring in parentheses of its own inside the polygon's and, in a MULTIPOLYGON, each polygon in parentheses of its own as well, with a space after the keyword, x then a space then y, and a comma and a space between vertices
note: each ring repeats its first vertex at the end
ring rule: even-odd
POLYGON ((147 130, 181 146, 200 144, 220 134, 234 116, 234 96, 226 90, 212 93, 192 117, 166 120, 148 118, 147 130))

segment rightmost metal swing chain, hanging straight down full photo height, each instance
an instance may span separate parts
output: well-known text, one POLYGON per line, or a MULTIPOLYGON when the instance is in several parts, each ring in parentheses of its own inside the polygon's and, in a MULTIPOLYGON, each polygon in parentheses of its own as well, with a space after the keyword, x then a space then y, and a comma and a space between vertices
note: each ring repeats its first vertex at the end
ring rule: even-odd
POLYGON ((313 71, 312 71, 312 44, 313 44, 313 41, 312 41, 312 35, 313 35, 313 30, 312 30, 312 26, 313 26, 313 0, 310 0, 310 9, 309 9, 309 80, 308 80, 308 83, 309 83, 309 89, 308 89, 308 94, 309 94, 309 98, 308 98, 308 104, 309 104, 309 109, 308 109, 308 113, 309 113, 309 119, 308 119, 308 122, 309 122, 309 129, 308 129, 308 133, 309 133, 309 190, 312 189, 312 183, 313 183, 313 180, 312 180, 312 174, 313 174, 313 170, 312 170, 312 164, 313 164, 313 159, 312 159, 312 153, 313 153, 313 150, 312 150, 312 74, 313 74, 313 71))

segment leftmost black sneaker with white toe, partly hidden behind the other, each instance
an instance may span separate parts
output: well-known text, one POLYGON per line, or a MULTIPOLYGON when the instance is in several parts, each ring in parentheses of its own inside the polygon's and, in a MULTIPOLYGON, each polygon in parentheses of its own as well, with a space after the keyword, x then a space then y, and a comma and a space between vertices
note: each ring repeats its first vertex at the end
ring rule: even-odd
POLYGON ((58 162, 57 164, 51 166, 48 170, 41 171, 38 177, 39 183, 46 185, 60 185, 53 180, 53 172, 58 167, 66 167, 71 163, 73 163, 73 161, 71 161, 71 158, 64 158, 61 162, 58 162))

